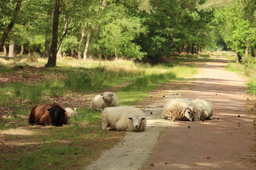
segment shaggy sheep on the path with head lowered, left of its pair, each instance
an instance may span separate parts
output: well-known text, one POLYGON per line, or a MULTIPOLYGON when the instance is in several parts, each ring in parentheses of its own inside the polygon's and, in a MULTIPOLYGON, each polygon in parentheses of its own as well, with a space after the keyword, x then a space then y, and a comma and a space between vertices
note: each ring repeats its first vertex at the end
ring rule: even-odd
POLYGON ((187 99, 172 98, 165 103, 162 118, 194 121, 193 103, 187 99))

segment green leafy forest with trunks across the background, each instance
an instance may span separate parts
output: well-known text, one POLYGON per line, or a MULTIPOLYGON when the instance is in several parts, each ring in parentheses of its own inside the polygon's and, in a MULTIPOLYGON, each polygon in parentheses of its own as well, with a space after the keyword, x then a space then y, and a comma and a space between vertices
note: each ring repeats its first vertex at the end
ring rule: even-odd
POLYGON ((256 53, 255 0, 1 0, 0 51, 56 59, 135 59, 230 50, 256 53))

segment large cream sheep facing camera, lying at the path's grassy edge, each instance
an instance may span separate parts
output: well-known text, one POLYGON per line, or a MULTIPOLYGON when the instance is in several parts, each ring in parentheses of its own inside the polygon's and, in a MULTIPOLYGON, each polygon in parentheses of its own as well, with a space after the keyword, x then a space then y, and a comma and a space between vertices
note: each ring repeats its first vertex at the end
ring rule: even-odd
POLYGON ((141 132, 146 128, 144 112, 132 106, 109 107, 102 111, 102 129, 141 132))

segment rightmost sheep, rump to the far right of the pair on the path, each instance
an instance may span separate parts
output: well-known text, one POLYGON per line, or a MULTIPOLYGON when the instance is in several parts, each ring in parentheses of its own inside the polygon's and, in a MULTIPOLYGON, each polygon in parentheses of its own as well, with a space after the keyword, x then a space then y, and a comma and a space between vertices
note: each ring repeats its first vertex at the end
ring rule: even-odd
POLYGON ((213 105, 211 102, 202 99, 192 99, 194 104, 194 118, 195 120, 212 119, 213 105))

